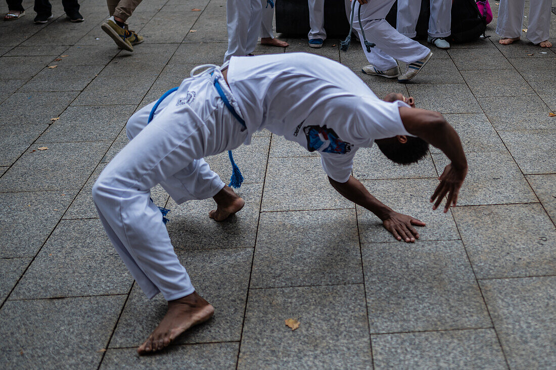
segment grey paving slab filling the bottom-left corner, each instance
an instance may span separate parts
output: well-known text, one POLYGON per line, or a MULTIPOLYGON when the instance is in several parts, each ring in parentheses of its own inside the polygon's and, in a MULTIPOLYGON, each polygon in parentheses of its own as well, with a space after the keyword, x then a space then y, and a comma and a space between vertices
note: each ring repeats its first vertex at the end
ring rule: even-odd
POLYGON ((4 369, 97 367, 125 295, 17 300, 0 310, 4 369))

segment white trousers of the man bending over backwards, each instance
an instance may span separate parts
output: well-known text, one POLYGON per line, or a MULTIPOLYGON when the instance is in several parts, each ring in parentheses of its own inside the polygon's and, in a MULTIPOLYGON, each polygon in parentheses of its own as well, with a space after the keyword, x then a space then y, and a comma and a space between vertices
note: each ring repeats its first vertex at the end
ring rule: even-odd
POLYGON ((162 214, 150 200, 150 189, 161 184, 178 204, 211 198, 224 182, 202 158, 234 149, 247 137, 216 91, 214 78, 241 114, 218 68, 213 76, 183 80, 158 106, 150 124, 154 102, 130 118, 127 133, 133 140, 93 186, 108 237, 148 298, 161 292, 173 300, 195 290, 173 250, 162 214))

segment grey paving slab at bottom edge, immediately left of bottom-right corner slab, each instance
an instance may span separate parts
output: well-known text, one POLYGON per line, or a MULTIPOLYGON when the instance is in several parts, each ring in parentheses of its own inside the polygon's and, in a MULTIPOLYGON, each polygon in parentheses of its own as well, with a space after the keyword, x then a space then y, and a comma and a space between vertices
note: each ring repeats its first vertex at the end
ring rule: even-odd
POLYGON ((375 369, 507 369, 492 329, 372 336, 375 369))

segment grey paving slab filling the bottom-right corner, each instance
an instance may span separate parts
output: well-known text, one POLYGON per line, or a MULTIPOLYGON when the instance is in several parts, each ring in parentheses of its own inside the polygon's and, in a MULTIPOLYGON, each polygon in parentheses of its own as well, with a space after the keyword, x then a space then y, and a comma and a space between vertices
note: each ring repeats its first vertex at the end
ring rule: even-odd
POLYGON ((556 277, 482 280, 480 284, 510 368, 553 368, 556 277))

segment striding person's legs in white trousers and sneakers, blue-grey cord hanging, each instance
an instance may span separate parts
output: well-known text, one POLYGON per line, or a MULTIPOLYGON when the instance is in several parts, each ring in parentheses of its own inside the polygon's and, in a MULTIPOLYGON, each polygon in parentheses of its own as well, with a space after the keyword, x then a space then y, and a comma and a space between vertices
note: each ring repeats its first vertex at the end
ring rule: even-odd
MULTIPOLYGON (((355 0, 354 0, 355 1, 355 0)), ((398 81, 407 82, 415 77, 433 55, 430 49, 415 40, 396 31, 384 19, 395 0, 371 0, 368 3, 356 3, 353 10, 353 28, 359 33, 359 40, 369 63, 361 68, 368 75, 383 76, 387 78, 398 77, 398 81), (376 44, 367 51, 364 37, 359 27, 359 8, 361 8, 361 24, 365 36, 376 44), (406 63, 407 70, 400 76, 398 62, 406 63)), ((360 2, 365 2, 361 0, 360 2)))

